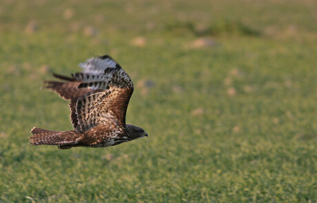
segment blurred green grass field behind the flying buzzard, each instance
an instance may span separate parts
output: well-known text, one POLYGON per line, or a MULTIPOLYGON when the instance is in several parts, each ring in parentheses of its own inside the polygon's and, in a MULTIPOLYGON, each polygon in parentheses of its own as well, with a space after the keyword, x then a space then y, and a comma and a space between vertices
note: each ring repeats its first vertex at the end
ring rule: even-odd
POLYGON ((6 0, 0 53, 0 202, 317 202, 316 1, 6 0), (72 129, 42 81, 103 54, 149 137, 28 145, 72 129))

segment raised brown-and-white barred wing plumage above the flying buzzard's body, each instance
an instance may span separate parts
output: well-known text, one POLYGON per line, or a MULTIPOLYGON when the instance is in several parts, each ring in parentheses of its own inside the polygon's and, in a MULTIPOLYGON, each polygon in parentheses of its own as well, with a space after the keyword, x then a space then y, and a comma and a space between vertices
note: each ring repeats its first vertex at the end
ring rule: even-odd
POLYGON ((125 125, 127 105, 133 83, 110 56, 89 58, 79 64, 83 72, 55 77, 67 82, 48 81, 47 86, 65 100, 70 100, 71 120, 77 132, 98 125, 125 125))

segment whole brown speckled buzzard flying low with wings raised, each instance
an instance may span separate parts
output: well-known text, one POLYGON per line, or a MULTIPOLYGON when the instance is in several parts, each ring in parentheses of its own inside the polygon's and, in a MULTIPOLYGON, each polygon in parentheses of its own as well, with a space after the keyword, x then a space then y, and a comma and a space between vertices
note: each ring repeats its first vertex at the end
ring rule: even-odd
POLYGON ((53 74, 61 81, 45 81, 45 87, 70 100, 70 131, 34 127, 31 145, 110 147, 147 136, 140 127, 125 124, 127 104, 133 92, 130 76, 110 56, 96 56, 80 63, 83 72, 71 77, 53 74))

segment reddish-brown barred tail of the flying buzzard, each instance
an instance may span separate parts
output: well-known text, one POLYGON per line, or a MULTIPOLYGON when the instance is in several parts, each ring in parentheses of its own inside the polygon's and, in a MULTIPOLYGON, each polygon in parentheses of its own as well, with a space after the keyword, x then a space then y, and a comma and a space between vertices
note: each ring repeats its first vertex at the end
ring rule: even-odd
POLYGON ((30 145, 58 145, 59 149, 75 147, 83 134, 76 131, 50 131, 33 127, 30 145))

